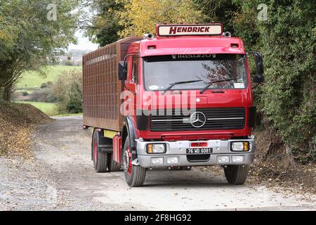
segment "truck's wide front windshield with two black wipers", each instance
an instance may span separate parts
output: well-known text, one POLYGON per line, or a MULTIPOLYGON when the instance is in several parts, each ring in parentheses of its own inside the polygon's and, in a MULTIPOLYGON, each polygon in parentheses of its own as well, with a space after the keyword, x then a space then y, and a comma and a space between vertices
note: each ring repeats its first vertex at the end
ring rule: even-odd
POLYGON ((169 55, 144 57, 145 89, 172 90, 244 89, 247 86, 245 58, 241 54, 169 55), (201 82, 186 82, 201 79, 201 82), (182 83, 181 83, 182 82, 182 83))

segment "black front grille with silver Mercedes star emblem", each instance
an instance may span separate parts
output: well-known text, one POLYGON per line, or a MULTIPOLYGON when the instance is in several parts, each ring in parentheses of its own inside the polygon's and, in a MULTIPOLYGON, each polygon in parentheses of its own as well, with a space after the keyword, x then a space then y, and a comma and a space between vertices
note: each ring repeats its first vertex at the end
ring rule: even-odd
POLYGON ((150 115, 151 131, 190 131, 190 130, 225 130, 225 129, 244 129, 246 112, 244 108, 197 108, 194 112, 202 113, 183 115, 180 111, 172 110, 169 115, 150 115), (204 120, 194 122, 195 119, 204 120))

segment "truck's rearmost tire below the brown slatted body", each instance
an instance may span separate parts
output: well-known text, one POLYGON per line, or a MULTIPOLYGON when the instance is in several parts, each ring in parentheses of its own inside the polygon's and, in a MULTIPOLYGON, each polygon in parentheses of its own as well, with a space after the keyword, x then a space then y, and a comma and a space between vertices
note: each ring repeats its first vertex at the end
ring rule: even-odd
POLYGON ((97 173, 107 171, 107 153, 100 152, 100 134, 97 129, 93 131, 92 137, 92 155, 93 167, 97 173))

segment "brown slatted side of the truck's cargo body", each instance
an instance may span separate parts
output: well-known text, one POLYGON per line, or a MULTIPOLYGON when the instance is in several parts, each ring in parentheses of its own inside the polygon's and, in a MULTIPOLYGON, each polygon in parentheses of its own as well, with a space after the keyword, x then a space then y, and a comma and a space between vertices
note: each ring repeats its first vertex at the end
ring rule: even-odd
POLYGON ((131 37, 109 44, 83 56, 84 125, 119 131, 123 90, 118 79, 119 60, 126 56, 129 45, 140 38, 131 37))

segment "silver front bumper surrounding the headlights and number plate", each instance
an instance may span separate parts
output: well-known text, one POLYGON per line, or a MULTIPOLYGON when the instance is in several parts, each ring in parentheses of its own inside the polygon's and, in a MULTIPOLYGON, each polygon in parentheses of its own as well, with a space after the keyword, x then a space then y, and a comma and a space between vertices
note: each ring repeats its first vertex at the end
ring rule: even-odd
MULTIPOLYGON (((209 154, 209 159, 203 162, 189 162, 187 159, 186 149, 191 148, 190 143, 201 141, 142 141, 140 139, 137 142, 138 162, 141 167, 183 167, 183 166, 206 166, 206 165, 250 165, 254 161, 254 151, 256 148, 254 139, 234 139, 234 140, 209 140, 208 148, 213 148, 213 152, 209 154), (232 141, 249 141, 249 151, 247 152, 232 152, 230 150, 230 143, 232 141), (166 153, 162 154, 148 154, 146 152, 146 146, 148 143, 166 143, 166 153), (229 162, 218 162, 218 156, 228 156, 229 162), (233 155, 244 156, 243 162, 232 162, 233 155), (159 157, 164 158, 164 164, 152 164, 151 158, 159 157), (166 158, 178 157, 178 163, 168 164, 166 158)), ((206 142, 206 141, 203 141, 206 142)))

